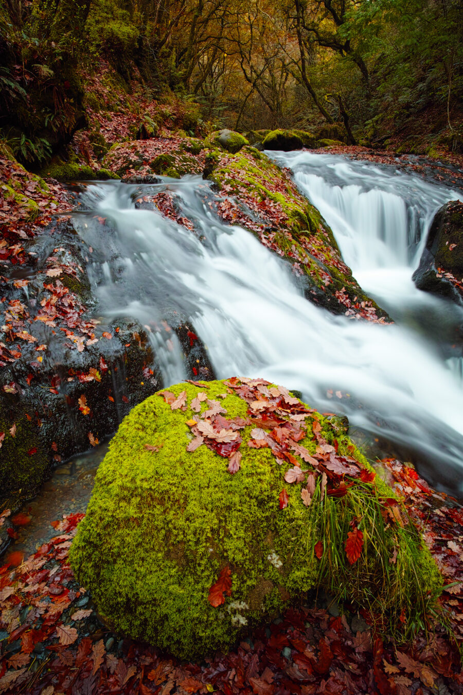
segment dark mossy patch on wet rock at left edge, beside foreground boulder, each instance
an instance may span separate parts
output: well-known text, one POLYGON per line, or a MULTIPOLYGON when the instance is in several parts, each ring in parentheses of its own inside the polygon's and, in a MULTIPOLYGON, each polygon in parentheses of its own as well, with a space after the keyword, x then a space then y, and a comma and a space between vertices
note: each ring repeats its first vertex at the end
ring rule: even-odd
POLYGON ((47 455, 37 432, 17 402, 2 398, 0 432, 5 439, 0 449, 0 507, 6 500, 33 496, 49 469, 47 455), (16 425, 15 436, 10 428, 16 425))

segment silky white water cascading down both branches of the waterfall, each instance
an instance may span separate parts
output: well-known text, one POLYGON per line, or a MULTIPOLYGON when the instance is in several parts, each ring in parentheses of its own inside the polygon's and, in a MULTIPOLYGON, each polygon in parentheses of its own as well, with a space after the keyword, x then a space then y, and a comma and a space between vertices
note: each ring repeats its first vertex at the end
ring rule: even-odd
POLYGON ((305 300, 283 261, 249 232, 217 220, 199 177, 89 188, 87 206, 115 228, 78 217, 87 224, 81 236, 94 247, 90 277, 101 306, 150 327, 166 386, 185 378, 180 346, 160 329, 162 318, 178 311, 207 346, 217 377, 262 376, 299 389, 321 411, 346 413, 354 425, 409 447, 430 480, 461 491, 463 383, 447 347, 463 312, 411 281, 432 215, 455 196, 339 157, 278 159, 294 169, 354 275, 395 325, 332 316, 305 300), (135 190, 165 188, 201 240, 160 213, 135 209, 135 190))

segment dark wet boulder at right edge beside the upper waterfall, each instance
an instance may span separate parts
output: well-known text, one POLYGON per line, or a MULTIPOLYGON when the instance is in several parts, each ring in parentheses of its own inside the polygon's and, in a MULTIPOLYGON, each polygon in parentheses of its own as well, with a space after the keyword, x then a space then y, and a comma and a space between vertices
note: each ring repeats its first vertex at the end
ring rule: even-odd
POLYGON ((451 297, 463 304, 463 203, 446 203, 437 211, 426 247, 412 279, 420 290, 451 297))

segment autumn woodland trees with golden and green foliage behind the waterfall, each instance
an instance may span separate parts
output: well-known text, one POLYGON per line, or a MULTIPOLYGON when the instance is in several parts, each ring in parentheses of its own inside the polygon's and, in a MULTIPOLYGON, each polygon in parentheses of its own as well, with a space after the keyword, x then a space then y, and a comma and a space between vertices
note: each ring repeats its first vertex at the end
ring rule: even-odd
MULTIPOLYGON (((461 151, 463 0, 6 0, 0 128, 40 163, 85 126, 85 76, 174 92, 237 130, 342 124, 348 144, 461 151)), ((329 131, 328 131, 329 132, 329 131)))

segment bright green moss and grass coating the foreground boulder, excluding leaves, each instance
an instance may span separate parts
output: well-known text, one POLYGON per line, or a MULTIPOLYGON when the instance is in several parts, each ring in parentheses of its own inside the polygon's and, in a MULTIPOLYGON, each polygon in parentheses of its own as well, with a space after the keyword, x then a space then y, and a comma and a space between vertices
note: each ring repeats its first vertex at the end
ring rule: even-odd
MULTIPOLYGON (((208 386, 208 398, 226 392, 224 382, 208 386)), ((186 391, 190 404, 202 389, 178 384, 169 390, 186 391)), ((237 395, 221 402, 226 417, 246 415, 237 395)), ((146 399, 121 423, 96 475, 69 557, 112 628, 179 657, 201 657, 229 648, 249 625, 274 616, 287 592, 298 601, 317 586, 386 611, 391 626, 403 608, 423 619, 440 575, 412 525, 384 521, 380 497, 393 497, 392 490, 383 482, 359 483, 342 498, 322 499, 319 476, 305 507, 301 486, 283 479, 289 466, 279 466, 268 448, 246 446, 251 427, 241 432, 235 475, 227 472, 228 459, 205 445, 187 453, 186 420, 195 415, 190 407, 172 411, 160 395, 146 399), (279 509, 283 488, 289 502, 279 509), (365 543, 351 566, 344 543, 353 518, 365 543), (324 546, 321 560, 317 541, 324 546), (396 564, 389 562, 394 550, 396 564), (225 566, 232 595, 214 608, 208 592, 225 566)), ((334 441, 329 421, 317 417, 327 441, 334 441)), ((337 441, 341 452, 361 457, 347 436, 338 434, 337 441)), ((310 426, 301 443, 314 452, 310 426)))

